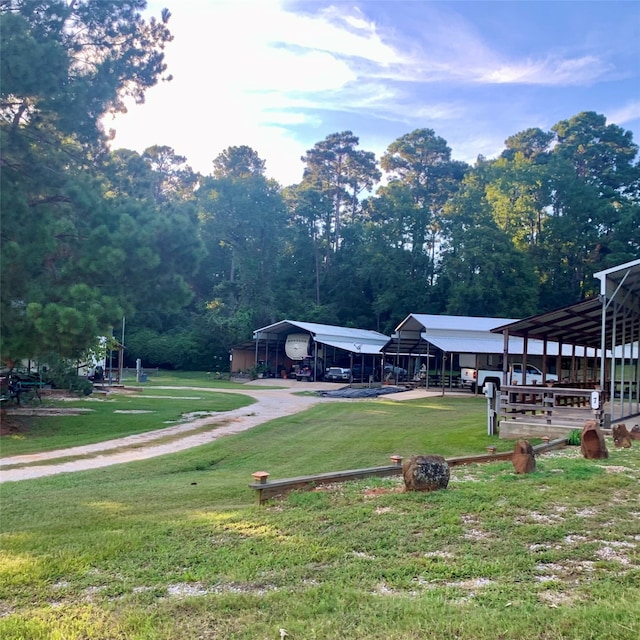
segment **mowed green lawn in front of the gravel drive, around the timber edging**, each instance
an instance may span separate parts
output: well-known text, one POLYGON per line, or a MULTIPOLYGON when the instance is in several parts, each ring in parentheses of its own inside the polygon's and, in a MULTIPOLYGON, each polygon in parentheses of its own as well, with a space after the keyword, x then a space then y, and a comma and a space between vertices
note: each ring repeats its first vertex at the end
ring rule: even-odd
MULTIPOLYGON (((0 637, 631 639, 640 456, 578 448, 445 491, 369 479, 254 504, 273 478, 479 453, 477 398, 327 403, 187 452, 0 485, 0 637)), ((610 447, 612 446, 609 442, 610 447)))

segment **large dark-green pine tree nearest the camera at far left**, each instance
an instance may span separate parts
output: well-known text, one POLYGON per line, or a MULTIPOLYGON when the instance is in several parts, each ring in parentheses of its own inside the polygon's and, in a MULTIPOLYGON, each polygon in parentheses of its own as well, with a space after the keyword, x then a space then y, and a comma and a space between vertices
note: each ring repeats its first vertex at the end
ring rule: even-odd
MULTIPOLYGON (((136 289, 130 276, 150 275, 165 238, 136 227, 136 208, 109 192, 100 160, 101 116, 122 110, 125 97, 141 101, 164 72, 168 13, 145 22, 144 5, 10 0, 0 8, 5 361, 79 357, 152 289, 136 289)), ((168 280, 178 279, 172 268, 168 280)))

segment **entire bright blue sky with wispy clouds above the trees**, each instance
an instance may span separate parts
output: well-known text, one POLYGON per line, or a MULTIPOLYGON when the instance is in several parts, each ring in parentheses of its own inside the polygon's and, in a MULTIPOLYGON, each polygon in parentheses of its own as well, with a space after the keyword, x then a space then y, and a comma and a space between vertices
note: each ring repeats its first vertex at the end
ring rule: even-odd
POLYGON ((170 82, 105 121, 112 148, 172 147, 204 175, 247 145, 282 186, 301 156, 352 131, 380 159, 433 129, 452 158, 596 111, 640 144, 640 2, 164 0, 170 82))

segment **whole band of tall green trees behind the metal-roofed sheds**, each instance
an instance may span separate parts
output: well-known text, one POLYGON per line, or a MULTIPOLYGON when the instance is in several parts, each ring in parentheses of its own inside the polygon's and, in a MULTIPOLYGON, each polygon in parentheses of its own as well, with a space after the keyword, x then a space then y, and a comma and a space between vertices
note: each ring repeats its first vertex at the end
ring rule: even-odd
POLYGON ((473 166, 425 128, 379 159, 331 134, 287 187, 246 146, 200 175, 165 146, 110 152, 99 125, 165 73, 168 14, 49 4, 0 14, 4 360, 79 358, 125 316, 131 361, 224 369, 284 318, 389 333, 411 312, 525 317, 640 255, 638 147, 602 115, 473 166))

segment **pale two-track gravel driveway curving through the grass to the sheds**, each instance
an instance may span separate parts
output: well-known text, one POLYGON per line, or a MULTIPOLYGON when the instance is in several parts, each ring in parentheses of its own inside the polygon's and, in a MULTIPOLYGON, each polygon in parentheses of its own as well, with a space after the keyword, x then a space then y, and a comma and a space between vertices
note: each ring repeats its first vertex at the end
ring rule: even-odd
MULTIPOLYGON (((273 384, 273 382, 271 382, 273 384)), ((210 388, 202 389, 189 387, 194 391, 211 391, 210 388)), ((323 398, 321 396, 300 396, 294 395, 295 391, 320 389, 335 389, 335 385, 328 383, 298 383, 296 386, 288 386, 280 389, 215 389, 222 393, 241 393, 255 398, 257 402, 247 407, 227 411, 221 414, 207 416, 188 423, 165 427, 156 431, 148 431, 133 436, 117 438, 105 442, 98 442, 80 447, 70 447, 68 449, 58 449, 56 451, 44 451, 42 453, 14 456, 11 458, 0 458, 0 466, 16 466, 13 469, 0 471, 0 482, 15 482, 18 480, 28 480, 43 476, 55 475, 58 473, 71 473, 74 471, 85 471, 87 469, 98 469, 108 467, 113 464, 123 464, 136 460, 146 460, 155 456, 165 455, 183 451, 201 444, 213 442, 222 436, 231 435, 246 431, 264 422, 269 422, 276 418, 290 416, 308 409, 320 402, 336 402, 336 399, 323 398), (222 423, 216 429, 189 435, 190 431, 198 430, 210 424, 222 423), (154 444, 154 440, 165 439, 167 436, 181 436, 170 442, 154 444), (125 451, 119 449, 128 448, 125 451), (111 453, 109 453, 111 451, 111 453), (69 458, 74 456, 84 456, 77 460, 69 460, 53 464, 33 464, 34 462, 55 460, 56 458, 69 458)), ((154 389, 181 389, 185 387, 154 387, 154 389)))

